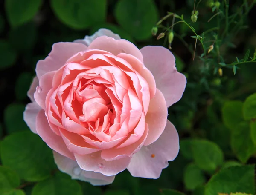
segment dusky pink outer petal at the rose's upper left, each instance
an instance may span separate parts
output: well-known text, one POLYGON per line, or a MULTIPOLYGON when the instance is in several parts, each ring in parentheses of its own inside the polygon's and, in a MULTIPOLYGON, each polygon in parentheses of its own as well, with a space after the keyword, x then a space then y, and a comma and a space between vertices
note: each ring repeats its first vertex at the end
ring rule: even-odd
POLYGON ((59 42, 52 45, 52 51, 44 60, 36 64, 35 72, 39 80, 47 72, 58 70, 66 61, 78 52, 83 52, 87 46, 81 43, 59 42))

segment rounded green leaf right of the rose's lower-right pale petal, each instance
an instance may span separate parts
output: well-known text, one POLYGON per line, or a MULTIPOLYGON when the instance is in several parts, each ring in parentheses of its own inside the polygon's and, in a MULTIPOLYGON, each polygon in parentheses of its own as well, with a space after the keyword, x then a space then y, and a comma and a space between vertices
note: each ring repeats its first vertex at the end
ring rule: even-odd
POLYGON ((207 140, 192 140, 192 154, 196 165, 205 171, 214 171, 223 162, 220 147, 207 140))

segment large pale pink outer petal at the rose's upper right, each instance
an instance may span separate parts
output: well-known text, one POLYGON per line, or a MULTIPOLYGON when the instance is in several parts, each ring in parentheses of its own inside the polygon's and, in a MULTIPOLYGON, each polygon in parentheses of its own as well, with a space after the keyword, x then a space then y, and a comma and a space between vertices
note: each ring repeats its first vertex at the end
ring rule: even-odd
POLYGON ((145 66, 154 75, 157 89, 166 99, 167 107, 182 97, 186 86, 186 77, 177 72, 175 57, 162 46, 145 46, 140 49, 145 66))

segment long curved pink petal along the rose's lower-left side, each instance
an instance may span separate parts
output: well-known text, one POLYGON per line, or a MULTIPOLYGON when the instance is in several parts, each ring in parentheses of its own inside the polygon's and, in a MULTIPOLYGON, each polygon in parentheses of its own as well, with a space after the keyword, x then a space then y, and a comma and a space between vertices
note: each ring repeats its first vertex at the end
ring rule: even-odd
POLYGON ((38 112, 35 126, 38 135, 51 149, 70 159, 74 159, 73 153, 67 149, 61 136, 56 135, 50 128, 43 109, 38 112))

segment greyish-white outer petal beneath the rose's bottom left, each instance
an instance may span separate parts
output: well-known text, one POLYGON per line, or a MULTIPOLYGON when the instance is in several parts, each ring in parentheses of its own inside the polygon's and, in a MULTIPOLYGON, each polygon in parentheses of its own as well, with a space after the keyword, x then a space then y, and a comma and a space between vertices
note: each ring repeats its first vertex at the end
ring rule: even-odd
POLYGON ((67 158, 58 152, 53 151, 55 163, 62 172, 71 176, 72 179, 90 182, 93 186, 112 184, 115 176, 105 176, 101 173, 82 170, 76 161, 67 158))

